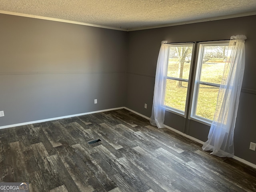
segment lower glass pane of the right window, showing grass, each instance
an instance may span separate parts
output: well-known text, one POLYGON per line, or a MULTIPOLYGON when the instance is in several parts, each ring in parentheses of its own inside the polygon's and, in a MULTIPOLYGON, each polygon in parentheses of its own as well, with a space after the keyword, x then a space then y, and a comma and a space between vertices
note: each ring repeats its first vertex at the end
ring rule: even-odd
POLYGON ((196 116, 213 120, 216 110, 216 103, 219 88, 207 85, 200 85, 196 105, 196 116))

